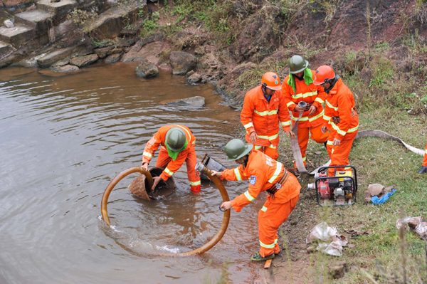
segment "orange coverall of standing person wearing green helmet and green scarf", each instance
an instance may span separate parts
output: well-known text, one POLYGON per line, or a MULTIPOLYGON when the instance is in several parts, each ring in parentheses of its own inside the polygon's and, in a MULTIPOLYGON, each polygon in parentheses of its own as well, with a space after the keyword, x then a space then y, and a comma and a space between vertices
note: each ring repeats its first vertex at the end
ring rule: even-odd
MULTIPOLYGON (((310 70, 312 77, 315 77, 315 70, 310 70)), ((295 78, 295 90, 294 93, 292 86, 288 85, 288 75, 282 84, 282 93, 285 98, 286 106, 292 112, 292 122, 298 119, 300 112, 295 112, 295 107, 298 102, 304 101, 317 107, 317 110, 312 115, 309 115, 310 111, 302 112, 302 116, 298 121, 298 144, 300 145, 302 161, 305 165, 305 151, 307 150, 309 132, 311 133, 311 139, 317 143, 325 143, 327 141, 328 133, 322 133, 322 117, 323 117, 323 106, 322 104, 326 100, 326 93, 322 86, 310 83, 306 85, 304 80, 298 80, 295 78)), ((295 164, 295 162, 294 162, 295 164)), ((295 168, 297 164, 295 164, 295 168)))

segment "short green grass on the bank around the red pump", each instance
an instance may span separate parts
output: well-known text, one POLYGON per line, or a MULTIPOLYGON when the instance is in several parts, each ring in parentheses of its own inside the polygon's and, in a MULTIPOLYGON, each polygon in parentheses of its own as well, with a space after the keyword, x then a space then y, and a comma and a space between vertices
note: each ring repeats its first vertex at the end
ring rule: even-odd
MULTIPOLYGON (((344 81, 345 83, 345 81, 344 81)), ((409 115, 402 110, 379 107, 375 112, 359 113, 360 130, 383 130, 391 135, 400 137, 406 143, 423 149, 427 140, 425 117, 409 115)), ((280 162, 285 167, 293 167, 290 141, 286 135, 280 135, 280 162)), ((327 162, 328 156, 322 144, 310 140, 307 147, 307 164, 309 170, 320 167, 327 162), (322 154, 314 154, 320 151, 322 154)), ((348 236, 347 230, 370 231, 371 234, 349 238, 354 248, 344 248, 340 261, 348 266, 355 265, 337 280, 337 283, 364 283, 367 275, 376 278, 379 283, 388 282, 388 277, 402 280, 401 238, 396 229, 396 220, 404 216, 427 216, 427 176, 418 176, 416 172, 421 167, 423 157, 408 151, 402 144, 394 140, 376 137, 364 137, 354 141, 349 157, 350 164, 357 169, 359 191, 357 203, 353 206, 325 208, 317 206, 315 194, 309 194, 307 184, 314 182, 311 177, 301 177, 302 193, 300 201, 290 216, 304 219, 312 226, 302 228, 302 236, 317 223, 325 219, 330 226, 337 227, 339 233, 348 236), (369 184, 379 183, 384 186, 396 186, 396 193, 385 204, 376 205, 364 203, 364 191, 369 184), (362 270, 363 269, 363 270, 362 270), (379 273, 381 272, 381 273, 379 273)), ((294 238, 294 236, 292 236, 294 238)), ((426 242, 413 231, 406 231, 405 259, 406 276, 411 283, 418 283, 418 276, 427 279, 426 270, 421 270, 419 263, 425 261, 426 242)), ((304 241, 302 239, 301 241, 304 241)), ((330 256, 314 258, 312 265, 322 265, 334 260, 330 256), (320 263, 317 263, 320 262, 320 263)), ((316 268, 320 269, 320 268, 316 268)), ((323 270, 320 270, 322 272, 323 270)), ((397 283, 397 282, 393 282, 397 283)), ((409 282, 408 282, 409 283, 409 282)))

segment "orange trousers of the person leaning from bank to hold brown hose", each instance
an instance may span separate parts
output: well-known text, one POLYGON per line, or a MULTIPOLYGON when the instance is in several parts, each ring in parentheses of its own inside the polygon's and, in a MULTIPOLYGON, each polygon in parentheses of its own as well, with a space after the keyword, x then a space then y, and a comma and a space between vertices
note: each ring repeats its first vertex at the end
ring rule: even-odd
POLYGON ((263 209, 258 214, 261 256, 270 256, 271 253, 278 254, 280 252, 278 228, 288 220, 290 212, 297 206, 298 199, 300 199, 299 195, 285 204, 271 203, 271 199, 265 201, 263 209))

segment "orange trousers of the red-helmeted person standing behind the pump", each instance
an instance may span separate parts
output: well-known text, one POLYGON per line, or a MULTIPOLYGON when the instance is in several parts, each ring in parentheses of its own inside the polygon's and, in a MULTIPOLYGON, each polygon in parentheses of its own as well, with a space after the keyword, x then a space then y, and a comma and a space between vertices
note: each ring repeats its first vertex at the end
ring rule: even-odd
MULTIPOLYGON (((353 141, 354 137, 349 140, 341 140, 341 143, 339 145, 334 146, 333 144, 333 138, 330 137, 327 140, 327 154, 330 155, 331 158, 331 164, 330 166, 347 166, 350 164, 349 162, 349 155, 352 151, 353 141)), ((349 168, 348 168, 349 169, 349 168)), ((343 171, 347 170, 347 168, 337 168, 337 171, 343 171)), ((334 169, 328 170, 328 176, 333 177, 334 176, 334 169)))

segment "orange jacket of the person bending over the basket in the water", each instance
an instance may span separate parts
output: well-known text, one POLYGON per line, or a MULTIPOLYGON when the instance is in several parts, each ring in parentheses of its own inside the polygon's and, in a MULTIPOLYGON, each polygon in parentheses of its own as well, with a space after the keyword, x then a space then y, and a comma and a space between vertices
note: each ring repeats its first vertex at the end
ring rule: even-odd
POLYGON ((150 139, 147 142, 147 145, 144 148, 144 154, 142 154, 142 163, 148 163, 153 158, 154 152, 156 152, 157 149, 159 149, 159 146, 162 145, 162 148, 167 151, 165 140, 166 140, 166 133, 168 130, 170 130, 172 127, 181 127, 185 131, 185 136, 187 140, 187 146, 184 150, 179 152, 178 157, 169 164, 167 164, 166 169, 160 174, 160 177, 164 181, 169 179, 169 177, 172 177, 172 174, 174 174, 181 166, 184 164, 185 159, 187 157, 187 154, 189 154, 189 149, 191 147, 194 147, 194 144, 196 143, 196 137, 192 134, 189 127, 186 127, 184 125, 166 125, 159 128, 159 131, 154 134, 152 139, 150 139))

